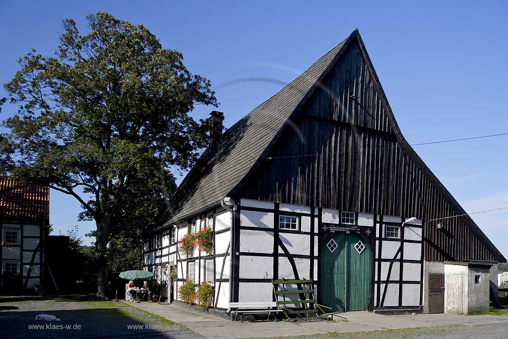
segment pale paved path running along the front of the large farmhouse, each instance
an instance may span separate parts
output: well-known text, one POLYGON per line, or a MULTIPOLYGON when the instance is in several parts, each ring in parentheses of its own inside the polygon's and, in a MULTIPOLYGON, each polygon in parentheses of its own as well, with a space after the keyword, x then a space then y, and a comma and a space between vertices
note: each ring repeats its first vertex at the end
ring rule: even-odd
MULTIPOLYGON (((341 314, 343 321, 290 323, 285 321, 232 322, 210 313, 187 309, 178 303, 136 303, 135 307, 182 324, 208 338, 267 338, 301 336, 329 332, 363 332, 414 327, 438 327, 451 325, 485 326, 502 325, 508 328, 508 316, 457 316, 450 314, 383 316, 370 312, 348 312, 341 314)), ((506 333, 508 336, 508 330, 506 333)), ((463 337, 463 336, 462 336, 463 337)), ((495 336, 493 336, 495 337, 495 336)), ((500 336, 502 337, 502 336, 500 336)))

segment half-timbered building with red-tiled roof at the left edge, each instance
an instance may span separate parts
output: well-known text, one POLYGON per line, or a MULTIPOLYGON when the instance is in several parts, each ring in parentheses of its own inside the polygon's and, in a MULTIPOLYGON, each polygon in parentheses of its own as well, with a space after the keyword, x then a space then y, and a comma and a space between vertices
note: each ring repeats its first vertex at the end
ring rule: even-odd
POLYGON ((42 286, 49 187, 0 177, 0 226, 2 272, 19 274, 23 289, 42 286))

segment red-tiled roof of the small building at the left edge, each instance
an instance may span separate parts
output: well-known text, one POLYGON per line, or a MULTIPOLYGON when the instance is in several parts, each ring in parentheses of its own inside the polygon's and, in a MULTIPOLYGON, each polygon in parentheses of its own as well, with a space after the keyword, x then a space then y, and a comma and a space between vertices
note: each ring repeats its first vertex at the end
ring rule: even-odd
POLYGON ((0 218, 49 221, 49 187, 0 177, 0 218))

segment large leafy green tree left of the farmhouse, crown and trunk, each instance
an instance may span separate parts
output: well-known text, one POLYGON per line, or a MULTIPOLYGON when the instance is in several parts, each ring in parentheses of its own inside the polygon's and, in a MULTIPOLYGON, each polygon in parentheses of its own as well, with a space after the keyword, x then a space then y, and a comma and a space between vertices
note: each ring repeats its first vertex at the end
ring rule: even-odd
POLYGON ((32 50, 19 59, 5 85, 18 109, 3 122, 0 165, 81 203, 79 218, 97 225, 97 296, 105 298, 108 242, 139 236, 160 212, 175 189, 170 170, 190 168, 206 143, 207 121, 189 112, 217 102, 210 82, 144 26, 104 12, 86 18, 85 35, 63 22, 55 56, 32 50))

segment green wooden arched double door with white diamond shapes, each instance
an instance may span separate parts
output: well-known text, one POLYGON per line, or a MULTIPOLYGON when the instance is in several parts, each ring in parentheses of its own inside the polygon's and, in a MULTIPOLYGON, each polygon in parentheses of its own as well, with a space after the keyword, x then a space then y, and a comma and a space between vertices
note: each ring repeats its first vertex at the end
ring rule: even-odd
POLYGON ((372 255, 354 234, 337 233, 321 248, 321 302, 333 311, 367 310, 372 255))

